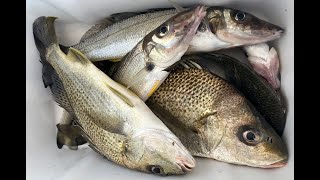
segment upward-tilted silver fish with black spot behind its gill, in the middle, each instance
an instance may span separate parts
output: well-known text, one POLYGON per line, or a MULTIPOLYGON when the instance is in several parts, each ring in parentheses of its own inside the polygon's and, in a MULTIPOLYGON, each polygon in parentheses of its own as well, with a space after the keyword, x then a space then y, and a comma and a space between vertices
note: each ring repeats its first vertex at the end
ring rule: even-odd
POLYGON ((206 11, 196 6, 180 12, 146 35, 108 75, 146 101, 179 62, 206 11))

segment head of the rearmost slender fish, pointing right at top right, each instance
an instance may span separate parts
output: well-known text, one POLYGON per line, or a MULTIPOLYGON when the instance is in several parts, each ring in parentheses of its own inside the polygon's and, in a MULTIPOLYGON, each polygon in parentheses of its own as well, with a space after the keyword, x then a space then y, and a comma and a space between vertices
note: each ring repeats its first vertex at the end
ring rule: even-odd
POLYGON ((216 37, 230 47, 258 44, 280 38, 284 30, 258 17, 231 8, 209 7, 206 19, 216 37))

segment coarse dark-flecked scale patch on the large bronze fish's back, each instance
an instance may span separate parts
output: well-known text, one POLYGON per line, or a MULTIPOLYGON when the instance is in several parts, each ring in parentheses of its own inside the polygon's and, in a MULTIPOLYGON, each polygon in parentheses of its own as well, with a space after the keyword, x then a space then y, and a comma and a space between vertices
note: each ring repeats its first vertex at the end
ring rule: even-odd
POLYGON ((165 108, 187 127, 194 127, 197 120, 213 113, 215 104, 230 93, 234 93, 234 88, 210 72, 178 69, 170 73, 148 102, 165 108))

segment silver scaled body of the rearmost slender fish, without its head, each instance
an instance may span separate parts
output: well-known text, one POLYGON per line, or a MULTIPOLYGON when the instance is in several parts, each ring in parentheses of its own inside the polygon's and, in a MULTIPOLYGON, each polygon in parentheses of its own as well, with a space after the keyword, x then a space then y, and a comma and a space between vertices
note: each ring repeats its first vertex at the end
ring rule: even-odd
POLYGON ((176 10, 166 10, 125 19, 108 26, 73 47, 86 54, 91 61, 105 60, 106 56, 109 59, 120 58, 146 34, 175 14, 176 10))

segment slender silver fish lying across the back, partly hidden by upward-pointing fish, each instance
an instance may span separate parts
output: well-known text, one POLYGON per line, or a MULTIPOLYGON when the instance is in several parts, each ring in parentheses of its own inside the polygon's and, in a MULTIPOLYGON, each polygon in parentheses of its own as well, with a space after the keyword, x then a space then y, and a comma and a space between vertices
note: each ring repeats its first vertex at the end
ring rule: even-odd
MULTIPOLYGON (((186 54, 272 41, 284 32, 283 28, 238 9, 206 6, 206 11, 186 54)), ((148 33, 178 12, 177 9, 159 8, 112 14, 89 29, 72 47, 93 62, 118 62, 148 33)))

